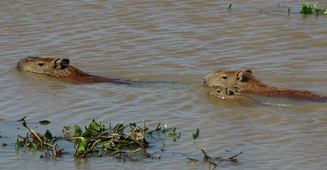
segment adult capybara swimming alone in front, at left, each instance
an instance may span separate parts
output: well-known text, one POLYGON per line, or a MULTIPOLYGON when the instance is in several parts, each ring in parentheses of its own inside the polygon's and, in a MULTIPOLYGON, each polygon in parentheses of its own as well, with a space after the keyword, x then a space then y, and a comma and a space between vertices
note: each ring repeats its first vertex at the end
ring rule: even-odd
POLYGON ((21 59, 17 68, 34 73, 48 74, 59 78, 68 78, 79 82, 113 82, 120 84, 132 84, 132 81, 104 78, 87 74, 71 65, 69 59, 27 57, 21 59))

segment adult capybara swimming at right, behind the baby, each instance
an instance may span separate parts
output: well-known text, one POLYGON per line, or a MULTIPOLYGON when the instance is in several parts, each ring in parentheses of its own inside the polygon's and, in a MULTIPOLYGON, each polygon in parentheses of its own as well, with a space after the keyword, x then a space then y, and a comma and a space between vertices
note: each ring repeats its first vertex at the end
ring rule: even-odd
POLYGON ((327 102, 327 97, 315 95, 308 91, 280 89, 267 86, 257 79, 251 70, 225 70, 210 72, 203 77, 203 84, 209 87, 238 87, 239 92, 265 95, 269 97, 286 97, 296 100, 327 102))

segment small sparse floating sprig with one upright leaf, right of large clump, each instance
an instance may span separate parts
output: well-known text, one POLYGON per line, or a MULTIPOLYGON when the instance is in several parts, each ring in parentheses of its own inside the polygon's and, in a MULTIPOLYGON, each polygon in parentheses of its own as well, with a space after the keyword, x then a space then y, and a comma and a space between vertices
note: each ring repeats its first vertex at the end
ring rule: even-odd
MULTIPOLYGON (((214 158, 211 158, 211 157, 206 153, 206 149, 205 149, 205 148, 201 149, 201 148, 197 145, 197 143, 195 143, 195 139, 199 138, 200 130, 197 129, 197 130, 195 131, 195 133, 192 134, 192 135, 193 135, 193 143, 194 143, 195 147, 197 147, 197 149, 201 150, 201 152, 202 152, 202 154, 203 154, 203 158, 204 158, 204 160, 207 161, 207 162, 209 162, 210 164, 213 164, 214 166, 217 166, 217 164, 213 161, 214 158)), ((236 154, 236 155, 234 155, 234 156, 232 156, 232 157, 226 158, 226 159, 223 159, 223 158, 221 158, 220 156, 216 157, 215 159, 217 159, 218 161, 224 161, 224 160, 227 160, 227 161, 231 161, 231 162, 237 162, 237 159, 235 159, 235 157, 238 156, 238 155, 240 155, 240 154, 242 154, 242 153, 243 153, 243 152, 239 152, 238 154, 236 154)), ((192 162, 196 162, 196 161, 198 161, 197 159, 193 159, 193 158, 187 158, 187 159, 189 159, 189 160, 192 161, 192 162)))

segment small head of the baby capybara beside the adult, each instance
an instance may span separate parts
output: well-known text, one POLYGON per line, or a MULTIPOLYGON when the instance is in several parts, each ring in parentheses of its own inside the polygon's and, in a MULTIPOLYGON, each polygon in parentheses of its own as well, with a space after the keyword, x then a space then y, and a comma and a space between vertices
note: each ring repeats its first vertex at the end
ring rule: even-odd
POLYGON ((215 86, 208 90, 209 95, 213 95, 219 99, 232 98, 234 95, 239 95, 238 88, 235 86, 233 88, 215 86))

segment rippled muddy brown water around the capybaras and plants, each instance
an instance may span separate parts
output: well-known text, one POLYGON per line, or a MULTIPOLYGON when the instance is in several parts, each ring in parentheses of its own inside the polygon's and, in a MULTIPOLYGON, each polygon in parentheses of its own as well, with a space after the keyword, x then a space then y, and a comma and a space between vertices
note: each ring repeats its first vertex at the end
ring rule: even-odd
POLYGON ((218 169, 325 169, 326 103, 256 95, 247 95, 254 105, 225 102, 208 96, 201 84, 214 70, 250 68, 270 86, 327 96, 326 16, 300 14, 298 1, 279 4, 0 1, 0 143, 8 144, 0 148, 0 169, 208 169, 192 143, 197 128, 197 142, 210 156, 243 152, 238 163, 216 161, 218 169), (28 56, 70 58, 94 75, 171 84, 83 84, 17 70, 28 56), (148 152, 160 160, 78 159, 64 142, 70 154, 44 159, 44 152, 15 149, 17 135, 26 133, 15 120, 27 113, 31 127, 54 136, 64 125, 84 126, 96 117, 113 123, 145 119, 153 128, 160 119, 182 137, 165 140, 163 151, 154 141, 148 152), (40 125, 44 119, 51 123, 40 125))

